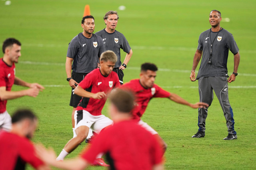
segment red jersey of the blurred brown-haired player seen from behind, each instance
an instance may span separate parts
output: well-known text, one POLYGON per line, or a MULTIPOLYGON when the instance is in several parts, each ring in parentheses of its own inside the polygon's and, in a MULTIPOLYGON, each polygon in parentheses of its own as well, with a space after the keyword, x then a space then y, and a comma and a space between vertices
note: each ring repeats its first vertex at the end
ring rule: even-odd
POLYGON ((81 157, 93 163, 102 152, 113 170, 150 170, 162 162, 162 149, 156 138, 133 120, 114 123, 100 132, 81 157))

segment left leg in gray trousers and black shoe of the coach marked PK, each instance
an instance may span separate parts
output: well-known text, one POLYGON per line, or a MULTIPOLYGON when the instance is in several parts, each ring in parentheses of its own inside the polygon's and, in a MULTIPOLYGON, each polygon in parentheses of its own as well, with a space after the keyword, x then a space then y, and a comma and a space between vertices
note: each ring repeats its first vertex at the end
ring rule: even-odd
MULTIPOLYGON (((200 102, 204 102, 210 105, 212 104, 213 100, 213 91, 212 86, 209 82, 209 77, 201 77, 198 79, 198 91, 199 91, 199 98, 200 102)), ((204 137, 205 135, 205 121, 208 115, 208 108, 198 108, 198 132, 193 135, 192 137, 204 137)))

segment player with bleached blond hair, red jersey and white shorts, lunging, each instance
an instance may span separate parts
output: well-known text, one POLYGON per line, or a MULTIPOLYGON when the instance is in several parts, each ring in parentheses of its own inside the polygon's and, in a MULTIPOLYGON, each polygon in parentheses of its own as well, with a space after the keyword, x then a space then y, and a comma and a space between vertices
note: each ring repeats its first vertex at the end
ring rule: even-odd
MULTIPOLYGON (((100 69, 96 68, 87 74, 75 88, 74 93, 83 97, 74 115, 77 136, 68 141, 57 160, 63 160, 75 150, 86 139, 89 128, 98 134, 105 127, 112 125, 113 121, 102 115, 101 111, 107 94, 114 87, 120 86, 116 72, 112 72, 116 61, 117 57, 113 51, 105 51, 100 56, 100 69)), ((94 164, 108 166, 101 156, 97 157, 94 164)))

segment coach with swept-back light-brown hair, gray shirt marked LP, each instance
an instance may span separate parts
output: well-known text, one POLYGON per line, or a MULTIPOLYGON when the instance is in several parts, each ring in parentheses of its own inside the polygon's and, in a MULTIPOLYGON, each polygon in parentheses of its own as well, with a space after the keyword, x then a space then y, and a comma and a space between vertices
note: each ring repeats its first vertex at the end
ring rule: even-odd
POLYGON ((103 19, 105 21, 106 28, 96 32, 95 34, 102 37, 106 50, 111 50, 116 53, 117 62, 113 71, 118 74, 119 82, 122 85, 124 77, 122 70, 126 68, 130 58, 132 57, 132 49, 124 35, 115 30, 119 19, 117 12, 108 11, 103 19), (123 51, 127 53, 123 64, 121 62, 120 49, 123 49, 123 51))

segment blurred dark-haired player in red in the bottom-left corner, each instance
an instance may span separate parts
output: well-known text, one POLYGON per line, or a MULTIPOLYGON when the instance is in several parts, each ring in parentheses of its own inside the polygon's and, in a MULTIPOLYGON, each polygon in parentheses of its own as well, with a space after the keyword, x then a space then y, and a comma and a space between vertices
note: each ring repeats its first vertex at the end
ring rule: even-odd
POLYGON ((12 115, 12 130, 0 131, 0 170, 24 170, 26 163, 37 170, 49 169, 36 157, 29 140, 37 123, 36 115, 27 109, 18 110, 12 115))

